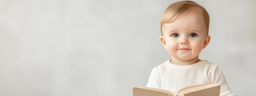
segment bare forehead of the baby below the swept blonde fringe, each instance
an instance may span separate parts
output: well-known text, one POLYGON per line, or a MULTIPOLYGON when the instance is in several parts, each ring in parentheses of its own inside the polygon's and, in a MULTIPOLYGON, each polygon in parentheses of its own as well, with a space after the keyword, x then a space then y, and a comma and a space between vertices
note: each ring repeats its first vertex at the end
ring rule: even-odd
POLYGON ((172 30, 198 30, 200 32, 205 32, 206 25, 204 23, 204 18, 202 14, 198 12, 188 12, 180 16, 180 18, 178 18, 174 22, 165 23, 163 25, 164 33, 170 32, 172 30))

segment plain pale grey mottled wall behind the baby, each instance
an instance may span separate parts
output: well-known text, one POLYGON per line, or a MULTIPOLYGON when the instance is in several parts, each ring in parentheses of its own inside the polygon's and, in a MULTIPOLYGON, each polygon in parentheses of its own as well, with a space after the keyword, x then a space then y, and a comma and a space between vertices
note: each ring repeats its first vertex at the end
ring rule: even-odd
MULTIPOLYGON (((0 0, 0 96, 132 96, 170 59, 162 12, 177 0, 0 0)), ((256 1, 195 0, 210 14, 200 54, 232 91, 256 89, 256 1)))

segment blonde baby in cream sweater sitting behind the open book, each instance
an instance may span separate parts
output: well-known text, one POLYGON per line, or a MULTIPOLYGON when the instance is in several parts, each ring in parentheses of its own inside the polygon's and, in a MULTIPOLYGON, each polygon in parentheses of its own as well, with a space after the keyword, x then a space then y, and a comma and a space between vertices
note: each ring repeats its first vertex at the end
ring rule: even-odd
POLYGON ((193 1, 175 2, 166 8, 160 40, 172 60, 153 68, 147 87, 177 93, 187 86, 215 82, 221 85, 220 96, 236 96, 220 66, 198 59, 210 42, 209 22, 205 8, 193 1))

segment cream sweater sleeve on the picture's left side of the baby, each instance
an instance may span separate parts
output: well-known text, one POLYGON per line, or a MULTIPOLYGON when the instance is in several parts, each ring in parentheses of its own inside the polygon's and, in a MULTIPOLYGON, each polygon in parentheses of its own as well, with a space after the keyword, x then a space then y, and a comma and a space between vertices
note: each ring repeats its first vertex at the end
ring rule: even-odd
POLYGON ((150 87, 150 88, 160 88, 161 87, 160 72, 156 67, 153 68, 153 70, 149 76, 147 87, 150 87))

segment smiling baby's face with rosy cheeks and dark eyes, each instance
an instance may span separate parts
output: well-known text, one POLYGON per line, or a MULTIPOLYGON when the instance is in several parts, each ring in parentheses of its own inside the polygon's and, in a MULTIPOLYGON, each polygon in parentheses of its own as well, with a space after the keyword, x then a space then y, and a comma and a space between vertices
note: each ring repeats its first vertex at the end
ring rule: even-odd
MULTIPOLYGON (((174 60, 198 59, 206 38, 206 28, 201 14, 189 12, 162 28, 164 48, 174 60)), ((207 44, 206 44, 207 45, 207 44)))

